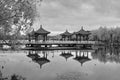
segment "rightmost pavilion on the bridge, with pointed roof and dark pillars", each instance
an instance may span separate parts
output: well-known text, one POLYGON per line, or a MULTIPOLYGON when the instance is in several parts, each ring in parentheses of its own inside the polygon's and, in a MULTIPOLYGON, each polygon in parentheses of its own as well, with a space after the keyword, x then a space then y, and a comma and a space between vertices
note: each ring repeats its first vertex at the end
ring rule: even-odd
POLYGON ((90 31, 85 31, 83 27, 81 27, 81 30, 74 33, 76 35, 77 41, 88 41, 89 35, 91 34, 90 31))

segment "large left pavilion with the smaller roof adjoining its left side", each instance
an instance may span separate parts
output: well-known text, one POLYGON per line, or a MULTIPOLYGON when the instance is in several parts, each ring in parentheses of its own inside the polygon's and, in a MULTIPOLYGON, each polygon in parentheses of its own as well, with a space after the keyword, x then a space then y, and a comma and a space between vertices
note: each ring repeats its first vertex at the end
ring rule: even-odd
POLYGON ((29 33, 29 41, 30 41, 31 37, 32 38, 34 37, 35 41, 38 41, 40 35, 43 37, 43 41, 46 41, 48 34, 50 34, 50 32, 43 29, 42 25, 40 25, 40 28, 37 31, 33 30, 31 33, 29 33))

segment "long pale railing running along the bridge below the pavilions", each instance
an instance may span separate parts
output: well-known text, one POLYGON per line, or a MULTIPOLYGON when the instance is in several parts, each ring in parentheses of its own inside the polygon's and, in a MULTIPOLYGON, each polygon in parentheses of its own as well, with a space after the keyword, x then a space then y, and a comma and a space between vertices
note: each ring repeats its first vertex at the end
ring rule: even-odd
MULTIPOLYGON (((31 41, 28 40, 18 40, 13 42, 14 44, 96 44, 97 41, 31 41)), ((0 44, 12 44, 6 40, 6 42, 0 40, 0 44)))

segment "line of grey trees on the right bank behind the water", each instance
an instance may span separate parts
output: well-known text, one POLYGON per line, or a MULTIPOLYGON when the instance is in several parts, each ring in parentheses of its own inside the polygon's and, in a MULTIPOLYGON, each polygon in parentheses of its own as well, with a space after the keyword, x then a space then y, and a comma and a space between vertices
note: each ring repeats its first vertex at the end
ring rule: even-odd
POLYGON ((100 27, 91 31, 90 40, 102 41, 106 43, 120 42, 120 28, 100 27))

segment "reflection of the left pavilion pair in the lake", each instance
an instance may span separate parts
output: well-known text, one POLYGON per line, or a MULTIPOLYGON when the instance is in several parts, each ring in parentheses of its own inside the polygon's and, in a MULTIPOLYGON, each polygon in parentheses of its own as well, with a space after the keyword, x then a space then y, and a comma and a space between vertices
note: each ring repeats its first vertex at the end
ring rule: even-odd
POLYGON ((27 55, 28 57, 32 58, 32 60, 36 63, 38 63, 40 65, 40 68, 42 68, 42 66, 46 63, 49 63, 50 60, 47 59, 47 53, 46 52, 42 52, 39 54, 39 51, 29 51, 29 54, 27 55))

